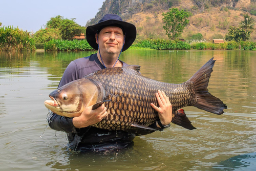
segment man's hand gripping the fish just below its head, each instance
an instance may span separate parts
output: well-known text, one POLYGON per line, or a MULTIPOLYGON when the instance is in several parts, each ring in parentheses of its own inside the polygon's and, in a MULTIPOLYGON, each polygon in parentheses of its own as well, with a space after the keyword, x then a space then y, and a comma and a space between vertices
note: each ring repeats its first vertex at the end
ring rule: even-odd
POLYGON ((99 108, 92 110, 92 105, 88 106, 79 117, 73 118, 73 124, 76 128, 87 127, 101 121, 108 112, 104 104, 99 108))

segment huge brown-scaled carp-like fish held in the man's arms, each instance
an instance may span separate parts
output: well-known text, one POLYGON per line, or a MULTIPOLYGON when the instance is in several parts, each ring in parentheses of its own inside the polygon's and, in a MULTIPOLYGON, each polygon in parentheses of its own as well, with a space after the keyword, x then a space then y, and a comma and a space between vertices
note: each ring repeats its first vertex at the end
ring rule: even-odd
POLYGON ((140 66, 116 67, 96 71, 72 81, 50 93, 45 105, 66 117, 80 116, 90 105, 96 109, 104 102, 108 115, 92 126, 106 130, 123 130, 137 135, 156 130, 148 127, 158 119, 150 103, 158 104, 155 93, 164 91, 173 107, 172 122, 186 129, 195 127, 186 117, 184 106, 221 115, 227 106, 207 89, 215 60, 211 58, 188 81, 181 84, 159 82, 140 74, 140 66))

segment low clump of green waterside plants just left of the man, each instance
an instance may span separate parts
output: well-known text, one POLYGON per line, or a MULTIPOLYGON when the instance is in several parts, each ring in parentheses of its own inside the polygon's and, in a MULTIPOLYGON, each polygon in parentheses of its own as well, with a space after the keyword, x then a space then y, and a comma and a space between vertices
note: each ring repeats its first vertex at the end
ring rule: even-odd
POLYGON ((85 51, 93 50, 87 40, 55 40, 45 43, 46 51, 85 51))

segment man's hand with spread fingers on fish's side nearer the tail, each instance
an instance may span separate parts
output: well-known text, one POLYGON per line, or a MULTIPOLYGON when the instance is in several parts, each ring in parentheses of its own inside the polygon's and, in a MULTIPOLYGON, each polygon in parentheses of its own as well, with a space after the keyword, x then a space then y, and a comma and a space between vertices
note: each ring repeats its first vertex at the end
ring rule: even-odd
MULTIPOLYGON (((163 125, 167 125, 172 121, 173 109, 172 104, 170 104, 169 97, 166 97, 163 91, 158 90, 156 93, 157 101, 159 104, 159 108, 151 103, 153 109, 158 112, 158 117, 163 125)), ((157 124, 158 127, 160 127, 157 124)))

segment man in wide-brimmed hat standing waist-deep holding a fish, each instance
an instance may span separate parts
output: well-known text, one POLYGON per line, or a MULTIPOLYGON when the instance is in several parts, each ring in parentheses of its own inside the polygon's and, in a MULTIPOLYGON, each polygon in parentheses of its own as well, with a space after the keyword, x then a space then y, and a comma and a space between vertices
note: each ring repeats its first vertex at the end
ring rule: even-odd
MULTIPOLYGON (((123 22, 118 15, 106 14, 98 24, 87 28, 86 37, 88 43, 98 50, 97 53, 72 61, 65 70, 58 87, 104 68, 128 66, 119 60, 119 56, 133 44, 136 38, 136 27, 123 22)), ((150 126, 162 131, 172 121, 172 105, 163 92, 158 91, 156 97, 159 107, 153 103, 151 106, 158 112, 160 120, 150 126)), ((52 129, 68 134, 68 147, 71 150, 109 151, 132 145, 135 138, 132 133, 108 131, 90 126, 99 122, 107 114, 104 104, 95 110, 89 106, 81 116, 74 118, 51 113, 48 124, 52 129)))

